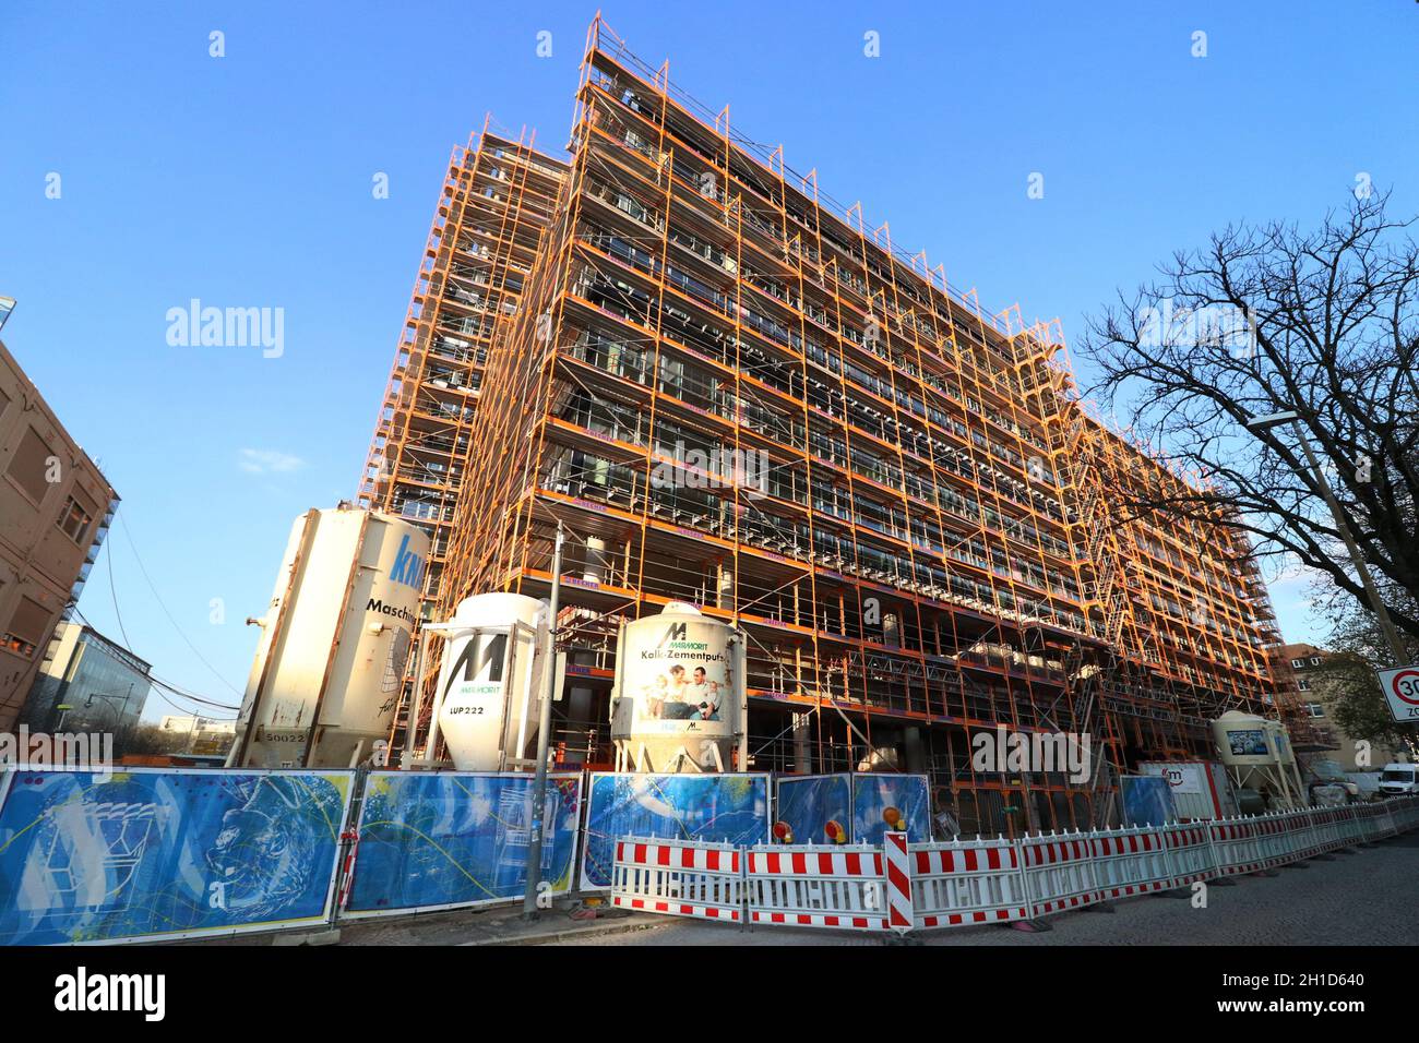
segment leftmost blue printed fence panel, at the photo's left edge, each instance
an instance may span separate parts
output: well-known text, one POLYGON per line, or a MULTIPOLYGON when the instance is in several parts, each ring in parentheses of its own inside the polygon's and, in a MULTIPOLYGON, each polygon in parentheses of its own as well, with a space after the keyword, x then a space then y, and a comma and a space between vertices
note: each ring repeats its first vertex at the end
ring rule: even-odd
POLYGON ((329 920, 353 772, 0 775, 0 945, 329 920))

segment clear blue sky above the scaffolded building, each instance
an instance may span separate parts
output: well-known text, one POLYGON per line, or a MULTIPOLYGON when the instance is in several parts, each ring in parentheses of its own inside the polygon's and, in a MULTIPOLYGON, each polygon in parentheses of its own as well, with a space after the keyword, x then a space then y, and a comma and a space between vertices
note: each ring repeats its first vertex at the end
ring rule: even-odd
MULTIPOLYGON (((595 11, 6 6, 0 294, 20 304, 4 339, 123 498, 79 607, 118 637, 116 593, 160 677, 238 701, 257 640, 243 620, 270 597, 291 522, 355 492, 450 148, 492 111, 559 150, 595 11), (166 312, 192 298, 282 308, 284 353, 170 346, 166 312)), ((604 16, 954 284, 1060 316, 1070 339, 1175 248, 1236 220, 1314 224, 1359 172, 1393 187, 1395 213, 1419 211, 1408 0, 604 16), (1043 199, 1026 196, 1032 173, 1043 199)), ((1273 587, 1290 640, 1325 633, 1304 595, 1298 579, 1273 587)), ((153 698, 158 712, 172 711, 153 698)))

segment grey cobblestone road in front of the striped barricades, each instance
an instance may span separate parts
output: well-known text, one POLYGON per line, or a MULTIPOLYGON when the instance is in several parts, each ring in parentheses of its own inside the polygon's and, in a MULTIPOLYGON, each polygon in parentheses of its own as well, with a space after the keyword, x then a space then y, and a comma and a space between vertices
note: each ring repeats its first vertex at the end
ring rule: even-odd
MULTIPOLYGON (((1172 897, 1128 898, 1114 911, 1051 917, 1051 931, 958 928, 917 935, 922 945, 1413 945, 1419 942, 1419 830, 1330 860, 1311 859, 1270 877, 1210 885, 1206 908, 1172 897)), ((559 945, 881 945, 849 931, 701 921, 559 945)))

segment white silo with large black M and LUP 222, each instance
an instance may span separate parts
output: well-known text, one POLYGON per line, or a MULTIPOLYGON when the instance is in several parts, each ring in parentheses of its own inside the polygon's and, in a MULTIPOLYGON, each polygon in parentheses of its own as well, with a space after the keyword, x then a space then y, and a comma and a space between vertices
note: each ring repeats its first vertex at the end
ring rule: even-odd
POLYGON ((546 616, 543 602, 487 593, 460 602, 438 627, 446 641, 434 712, 458 771, 531 763, 545 685, 546 616))

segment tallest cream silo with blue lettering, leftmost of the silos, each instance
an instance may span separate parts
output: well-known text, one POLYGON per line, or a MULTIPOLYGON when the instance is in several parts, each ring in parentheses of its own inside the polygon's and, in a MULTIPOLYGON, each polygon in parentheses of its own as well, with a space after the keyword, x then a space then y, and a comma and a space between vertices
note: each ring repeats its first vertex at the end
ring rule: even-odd
POLYGON ((429 536, 393 515, 311 509, 291 529, 230 765, 343 768, 387 739, 429 536))

